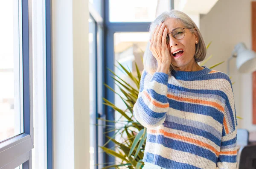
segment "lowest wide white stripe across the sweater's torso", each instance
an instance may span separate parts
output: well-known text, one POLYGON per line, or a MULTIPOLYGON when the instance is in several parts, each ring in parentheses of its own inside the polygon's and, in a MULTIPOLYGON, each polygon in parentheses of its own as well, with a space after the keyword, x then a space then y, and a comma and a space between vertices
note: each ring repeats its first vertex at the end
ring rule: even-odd
POLYGON ((216 164, 207 158, 203 158, 189 152, 182 152, 175 149, 164 147, 162 144, 147 142, 145 146, 145 152, 149 152, 155 155, 160 155, 163 158, 167 158, 179 163, 187 163, 189 165, 196 166, 203 169, 215 169, 216 164))

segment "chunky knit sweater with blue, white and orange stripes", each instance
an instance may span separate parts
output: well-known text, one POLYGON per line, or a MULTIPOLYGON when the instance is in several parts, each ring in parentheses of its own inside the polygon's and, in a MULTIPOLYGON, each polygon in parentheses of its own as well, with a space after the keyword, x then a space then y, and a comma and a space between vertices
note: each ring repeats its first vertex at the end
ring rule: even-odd
POLYGON ((143 162, 167 169, 236 169, 232 83, 227 74, 202 67, 172 76, 143 70, 133 109, 147 129, 143 162))

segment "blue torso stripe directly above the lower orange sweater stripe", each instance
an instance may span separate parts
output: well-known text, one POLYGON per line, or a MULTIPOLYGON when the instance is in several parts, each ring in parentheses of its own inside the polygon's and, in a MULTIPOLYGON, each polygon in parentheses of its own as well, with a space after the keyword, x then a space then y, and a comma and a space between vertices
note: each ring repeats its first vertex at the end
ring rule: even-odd
POLYGON ((177 123, 169 122, 169 121, 165 121, 163 126, 168 127, 170 129, 182 130, 184 132, 189 132, 189 133, 192 133, 195 135, 200 135, 200 136, 207 138, 210 141, 214 142, 216 145, 221 145, 221 139, 217 138, 212 133, 209 133, 209 132, 201 130, 201 129, 197 129, 195 127, 181 125, 181 124, 177 124, 177 123))

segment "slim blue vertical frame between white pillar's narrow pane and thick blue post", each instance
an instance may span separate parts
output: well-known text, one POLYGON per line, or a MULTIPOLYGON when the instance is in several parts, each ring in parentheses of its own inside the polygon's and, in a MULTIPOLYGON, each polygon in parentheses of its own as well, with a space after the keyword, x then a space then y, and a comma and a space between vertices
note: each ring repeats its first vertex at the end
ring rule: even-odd
MULTIPOLYGON (((104 0, 100 0, 101 1, 101 8, 102 10, 104 9, 104 0)), ((93 117, 93 124, 94 125, 94 132, 93 132, 93 139, 95 140, 95 143, 93 144, 94 147, 94 168, 95 169, 100 169, 101 168, 101 164, 103 163, 103 155, 101 153, 99 153, 99 145, 103 145, 104 141, 102 138, 103 136, 103 131, 104 131, 104 127, 99 124, 101 123, 98 118, 105 118, 103 112, 99 112, 100 110, 102 110, 102 101, 99 98, 102 98, 103 96, 103 87, 104 85, 97 85, 99 78, 102 78, 102 74, 103 74, 103 61, 102 58, 99 58, 100 56, 103 56, 103 50, 104 50, 104 30, 105 30, 105 25, 103 24, 103 11, 101 12, 102 14, 99 14, 99 12, 96 10, 96 8, 94 8, 93 4, 91 4, 89 2, 89 18, 91 18, 92 22, 95 24, 95 28, 94 28, 94 32, 96 34, 94 34, 93 39, 95 39, 94 45, 95 45, 95 60, 94 62, 95 67, 93 68, 95 70, 95 73, 93 73, 95 75, 94 78, 94 83, 95 83, 95 104, 93 105, 93 107, 95 107, 95 114, 93 117), (102 31, 102 36, 99 36, 100 32, 102 31), (102 49, 102 51, 99 51, 99 49, 102 49), (100 89, 99 89, 100 88, 100 89), (99 124, 99 125, 98 125, 99 124), (101 139, 99 139, 101 138, 101 139), (99 164, 99 165, 97 165, 99 164)), ((91 127, 91 126, 90 126, 91 127)))

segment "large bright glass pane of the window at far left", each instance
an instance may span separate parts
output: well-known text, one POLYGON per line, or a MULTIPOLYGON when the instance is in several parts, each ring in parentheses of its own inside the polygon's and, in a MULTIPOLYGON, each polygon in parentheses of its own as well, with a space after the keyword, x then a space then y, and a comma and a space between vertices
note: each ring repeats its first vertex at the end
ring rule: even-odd
POLYGON ((0 141, 23 132, 21 1, 0 3, 0 141), (3 3, 3 4, 2 4, 3 3), (21 125, 22 124, 22 125, 21 125))

